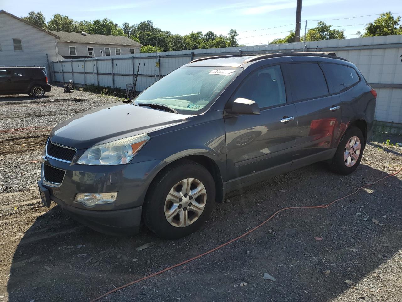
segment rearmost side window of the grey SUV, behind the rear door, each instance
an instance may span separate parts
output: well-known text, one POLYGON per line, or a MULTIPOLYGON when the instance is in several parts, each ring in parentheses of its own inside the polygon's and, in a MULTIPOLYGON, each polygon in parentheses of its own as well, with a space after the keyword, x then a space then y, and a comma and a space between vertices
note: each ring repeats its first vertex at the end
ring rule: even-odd
POLYGON ((336 93, 344 91, 360 81, 357 72, 352 67, 330 63, 322 63, 322 66, 336 93))

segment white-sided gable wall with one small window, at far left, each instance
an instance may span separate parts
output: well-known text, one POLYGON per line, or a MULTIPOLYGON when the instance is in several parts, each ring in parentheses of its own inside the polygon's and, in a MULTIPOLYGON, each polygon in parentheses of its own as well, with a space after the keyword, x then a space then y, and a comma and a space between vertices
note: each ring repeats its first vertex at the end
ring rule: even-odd
POLYGON ((57 60, 56 38, 8 14, 0 13, 0 65, 47 66, 57 60), (21 39, 22 50, 14 50, 12 39, 21 39))

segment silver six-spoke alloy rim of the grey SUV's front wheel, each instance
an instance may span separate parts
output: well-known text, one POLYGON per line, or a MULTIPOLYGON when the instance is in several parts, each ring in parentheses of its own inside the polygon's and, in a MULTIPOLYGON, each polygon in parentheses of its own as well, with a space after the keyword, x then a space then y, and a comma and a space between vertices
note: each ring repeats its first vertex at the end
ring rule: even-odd
POLYGON ((202 182, 195 178, 180 180, 166 197, 166 220, 177 228, 187 227, 201 216, 206 201, 207 191, 202 182))

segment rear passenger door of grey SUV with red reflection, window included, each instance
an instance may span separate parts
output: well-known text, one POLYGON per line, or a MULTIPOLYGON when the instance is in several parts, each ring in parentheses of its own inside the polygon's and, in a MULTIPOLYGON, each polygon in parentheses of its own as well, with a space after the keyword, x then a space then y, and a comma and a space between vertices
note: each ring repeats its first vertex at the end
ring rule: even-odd
POLYGON ((285 65, 298 124, 295 162, 292 168, 322 160, 335 147, 342 120, 340 97, 328 84, 318 62, 285 65), (297 161, 299 159, 299 161, 297 161))

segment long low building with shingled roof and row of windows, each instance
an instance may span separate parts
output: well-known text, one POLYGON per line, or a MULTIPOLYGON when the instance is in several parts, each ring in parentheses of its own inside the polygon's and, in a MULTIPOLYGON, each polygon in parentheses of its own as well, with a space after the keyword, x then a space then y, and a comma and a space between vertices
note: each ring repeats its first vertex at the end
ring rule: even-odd
POLYGON ((64 31, 50 32, 60 37, 57 40, 57 48, 59 54, 65 59, 119 56, 141 52, 142 45, 128 37, 64 31))

